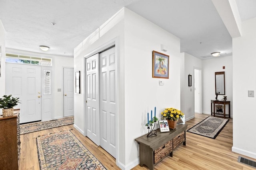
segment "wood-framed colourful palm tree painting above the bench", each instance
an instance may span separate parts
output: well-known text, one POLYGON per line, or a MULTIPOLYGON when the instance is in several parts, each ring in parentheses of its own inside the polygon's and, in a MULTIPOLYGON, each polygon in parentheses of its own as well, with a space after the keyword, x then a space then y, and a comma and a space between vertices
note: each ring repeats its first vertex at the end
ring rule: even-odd
POLYGON ((169 78, 169 56, 152 51, 152 78, 169 78))

